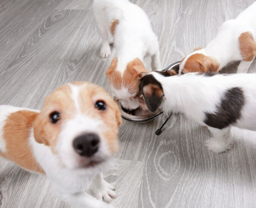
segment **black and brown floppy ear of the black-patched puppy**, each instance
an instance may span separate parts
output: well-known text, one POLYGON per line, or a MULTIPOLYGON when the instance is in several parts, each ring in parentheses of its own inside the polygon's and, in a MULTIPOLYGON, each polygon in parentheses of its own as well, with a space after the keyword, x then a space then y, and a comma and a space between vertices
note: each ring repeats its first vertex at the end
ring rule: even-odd
POLYGON ((148 84, 143 87, 142 94, 146 105, 151 112, 155 112, 163 101, 163 89, 157 84, 148 84))

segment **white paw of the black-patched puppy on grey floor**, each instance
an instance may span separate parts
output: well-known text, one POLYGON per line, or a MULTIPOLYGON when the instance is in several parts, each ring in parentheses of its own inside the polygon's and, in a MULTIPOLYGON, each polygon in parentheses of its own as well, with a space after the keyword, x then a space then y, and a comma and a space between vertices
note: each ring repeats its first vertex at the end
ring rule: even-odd
POLYGON ((226 152, 232 148, 232 143, 228 143, 225 140, 218 140, 215 138, 209 138, 205 141, 205 146, 214 153, 226 152))

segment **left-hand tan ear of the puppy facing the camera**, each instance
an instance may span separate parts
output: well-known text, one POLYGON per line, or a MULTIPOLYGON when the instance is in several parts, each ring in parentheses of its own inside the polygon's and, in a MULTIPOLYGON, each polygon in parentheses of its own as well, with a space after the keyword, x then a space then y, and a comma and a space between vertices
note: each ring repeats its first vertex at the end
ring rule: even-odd
POLYGON ((33 130, 34 130, 34 137, 36 142, 40 144, 43 143, 49 146, 49 143, 46 139, 46 134, 44 132, 44 122, 42 121, 40 113, 36 116, 36 119, 33 124, 33 130))

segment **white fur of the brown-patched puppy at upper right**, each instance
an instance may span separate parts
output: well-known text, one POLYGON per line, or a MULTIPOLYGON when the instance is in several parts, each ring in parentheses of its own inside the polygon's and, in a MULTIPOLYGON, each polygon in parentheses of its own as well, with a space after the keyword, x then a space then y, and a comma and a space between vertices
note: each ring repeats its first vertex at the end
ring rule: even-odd
MULTIPOLYGON (((245 9, 236 19, 224 22, 217 36, 203 49, 193 51, 182 61, 179 73, 184 68, 185 62, 193 54, 204 54, 214 58, 219 64, 219 70, 232 61, 242 60, 239 47, 239 36, 244 32, 250 32, 256 40, 256 2, 245 9)), ((241 61, 237 73, 246 73, 251 61, 241 61)))

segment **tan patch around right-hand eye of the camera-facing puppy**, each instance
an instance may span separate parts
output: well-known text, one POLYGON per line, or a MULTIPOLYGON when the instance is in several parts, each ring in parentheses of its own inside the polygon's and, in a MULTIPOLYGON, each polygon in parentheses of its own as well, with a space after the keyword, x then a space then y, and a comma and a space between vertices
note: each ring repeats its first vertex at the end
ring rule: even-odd
POLYGON ((104 136, 107 140, 110 152, 116 153, 118 146, 118 127, 122 124, 121 113, 118 104, 108 95, 108 93, 98 85, 85 83, 79 89, 79 106, 82 113, 90 112, 94 119, 101 120, 105 124, 104 136), (97 101, 104 101, 107 109, 104 111, 94 107, 97 101))

